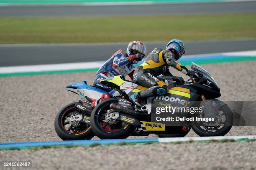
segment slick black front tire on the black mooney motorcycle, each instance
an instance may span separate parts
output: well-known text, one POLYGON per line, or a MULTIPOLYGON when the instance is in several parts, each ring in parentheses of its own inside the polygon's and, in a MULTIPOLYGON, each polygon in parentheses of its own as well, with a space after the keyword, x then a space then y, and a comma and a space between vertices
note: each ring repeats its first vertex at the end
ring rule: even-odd
POLYGON ((228 105, 223 105, 219 108, 219 112, 222 113, 222 115, 225 115, 225 123, 223 123, 223 126, 215 130, 214 126, 200 126, 196 121, 192 122, 192 129, 194 132, 199 136, 224 136, 226 135, 229 130, 232 128, 233 125, 233 113, 228 107, 228 105))

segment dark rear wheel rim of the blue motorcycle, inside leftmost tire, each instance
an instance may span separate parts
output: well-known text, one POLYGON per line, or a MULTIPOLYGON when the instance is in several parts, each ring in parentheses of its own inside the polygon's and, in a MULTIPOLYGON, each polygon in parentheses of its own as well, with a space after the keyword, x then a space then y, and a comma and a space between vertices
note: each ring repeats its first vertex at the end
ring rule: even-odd
POLYGON ((61 116, 60 124, 62 129, 70 134, 79 135, 87 132, 90 129, 90 125, 81 124, 81 126, 73 126, 69 120, 72 114, 78 113, 76 107, 70 107, 69 109, 65 110, 65 112, 61 116))

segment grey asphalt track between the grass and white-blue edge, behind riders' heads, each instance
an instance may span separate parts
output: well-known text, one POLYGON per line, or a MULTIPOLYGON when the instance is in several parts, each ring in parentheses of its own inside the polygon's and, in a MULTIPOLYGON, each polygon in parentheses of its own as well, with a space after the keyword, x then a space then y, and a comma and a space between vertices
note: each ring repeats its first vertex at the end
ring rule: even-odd
MULTIPOLYGON (((167 42, 145 42, 148 52, 164 48, 167 42)), ((0 45, 0 67, 105 61, 128 42, 92 44, 0 45), (19 59, 19 60, 17 60, 19 59)), ((256 39, 185 42, 185 55, 256 50, 256 39)))

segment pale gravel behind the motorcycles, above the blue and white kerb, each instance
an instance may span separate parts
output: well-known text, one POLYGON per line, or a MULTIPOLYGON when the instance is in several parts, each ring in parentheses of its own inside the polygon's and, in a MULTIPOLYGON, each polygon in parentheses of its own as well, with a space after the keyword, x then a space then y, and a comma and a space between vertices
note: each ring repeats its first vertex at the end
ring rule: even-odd
MULTIPOLYGON (((220 100, 256 100, 255 65, 256 61, 248 61, 202 67, 218 82, 220 100)), ((176 70, 171 72, 182 75, 176 70)), ((79 72, 0 77, 0 143, 61 140, 54 130, 55 115, 64 105, 81 99, 66 91, 66 85, 82 80, 92 84, 94 75, 95 72, 79 72)), ((233 127, 227 135, 256 135, 256 127, 233 127)), ((197 135, 190 132, 187 136, 197 135)))

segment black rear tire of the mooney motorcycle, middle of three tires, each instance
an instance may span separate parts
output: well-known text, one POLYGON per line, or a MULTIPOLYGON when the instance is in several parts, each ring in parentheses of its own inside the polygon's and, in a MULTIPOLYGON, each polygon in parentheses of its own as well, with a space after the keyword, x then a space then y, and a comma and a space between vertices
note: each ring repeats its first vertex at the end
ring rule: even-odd
POLYGON ((99 115, 101 115, 104 112, 104 110, 108 110, 110 107, 110 104, 112 103, 117 104, 118 100, 116 98, 110 98, 108 100, 100 102, 100 104, 94 108, 91 115, 92 131, 100 139, 125 139, 131 133, 134 132, 135 127, 133 127, 132 125, 123 123, 124 125, 119 130, 110 131, 110 130, 105 130, 100 123, 102 121, 99 120, 100 119, 99 115))

